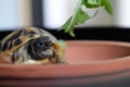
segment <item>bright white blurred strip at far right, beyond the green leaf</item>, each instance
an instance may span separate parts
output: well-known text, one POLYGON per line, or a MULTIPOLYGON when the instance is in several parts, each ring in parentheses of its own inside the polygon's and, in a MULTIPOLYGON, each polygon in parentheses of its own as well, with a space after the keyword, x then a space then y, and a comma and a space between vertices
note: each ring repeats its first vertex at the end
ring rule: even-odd
POLYGON ((119 27, 130 27, 130 0, 113 0, 113 24, 119 27))

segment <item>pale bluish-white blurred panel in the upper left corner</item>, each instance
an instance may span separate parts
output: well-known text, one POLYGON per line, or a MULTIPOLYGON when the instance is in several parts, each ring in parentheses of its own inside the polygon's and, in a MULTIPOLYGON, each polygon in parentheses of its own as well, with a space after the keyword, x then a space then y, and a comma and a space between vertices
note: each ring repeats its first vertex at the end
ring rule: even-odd
POLYGON ((0 0, 0 29, 20 25, 17 7, 17 0, 0 0))

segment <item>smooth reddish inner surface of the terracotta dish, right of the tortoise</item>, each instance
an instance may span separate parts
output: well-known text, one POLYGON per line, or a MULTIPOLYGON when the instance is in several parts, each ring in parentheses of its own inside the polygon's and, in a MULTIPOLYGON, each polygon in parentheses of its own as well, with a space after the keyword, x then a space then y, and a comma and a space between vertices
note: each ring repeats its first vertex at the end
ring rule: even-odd
POLYGON ((130 47, 118 42, 67 41, 65 58, 69 64, 122 59, 130 47))

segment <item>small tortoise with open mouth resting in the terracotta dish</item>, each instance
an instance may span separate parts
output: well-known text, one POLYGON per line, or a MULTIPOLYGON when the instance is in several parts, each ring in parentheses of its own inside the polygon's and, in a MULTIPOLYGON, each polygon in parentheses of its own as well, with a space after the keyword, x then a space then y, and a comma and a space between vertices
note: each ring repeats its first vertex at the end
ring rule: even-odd
POLYGON ((0 63, 65 64, 58 40, 38 27, 23 27, 0 41, 0 63))

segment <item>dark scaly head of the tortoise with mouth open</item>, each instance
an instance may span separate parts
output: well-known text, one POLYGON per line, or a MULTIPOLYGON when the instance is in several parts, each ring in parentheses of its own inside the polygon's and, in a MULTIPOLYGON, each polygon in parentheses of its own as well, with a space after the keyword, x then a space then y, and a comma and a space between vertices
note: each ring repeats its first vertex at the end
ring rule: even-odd
POLYGON ((42 36, 32 39, 29 47, 29 51, 34 60, 43 60, 46 58, 52 58, 54 55, 52 40, 49 36, 42 36))

